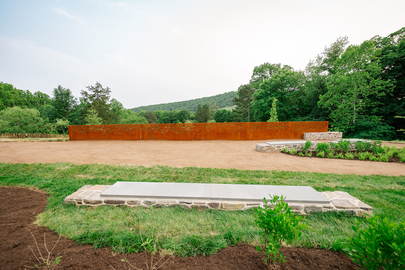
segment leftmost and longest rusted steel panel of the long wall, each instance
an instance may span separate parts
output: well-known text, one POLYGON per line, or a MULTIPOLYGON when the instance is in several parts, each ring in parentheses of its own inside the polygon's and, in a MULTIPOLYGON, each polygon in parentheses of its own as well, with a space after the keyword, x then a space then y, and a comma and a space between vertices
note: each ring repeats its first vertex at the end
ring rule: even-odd
POLYGON ((140 140, 139 124, 68 126, 71 141, 140 140))

